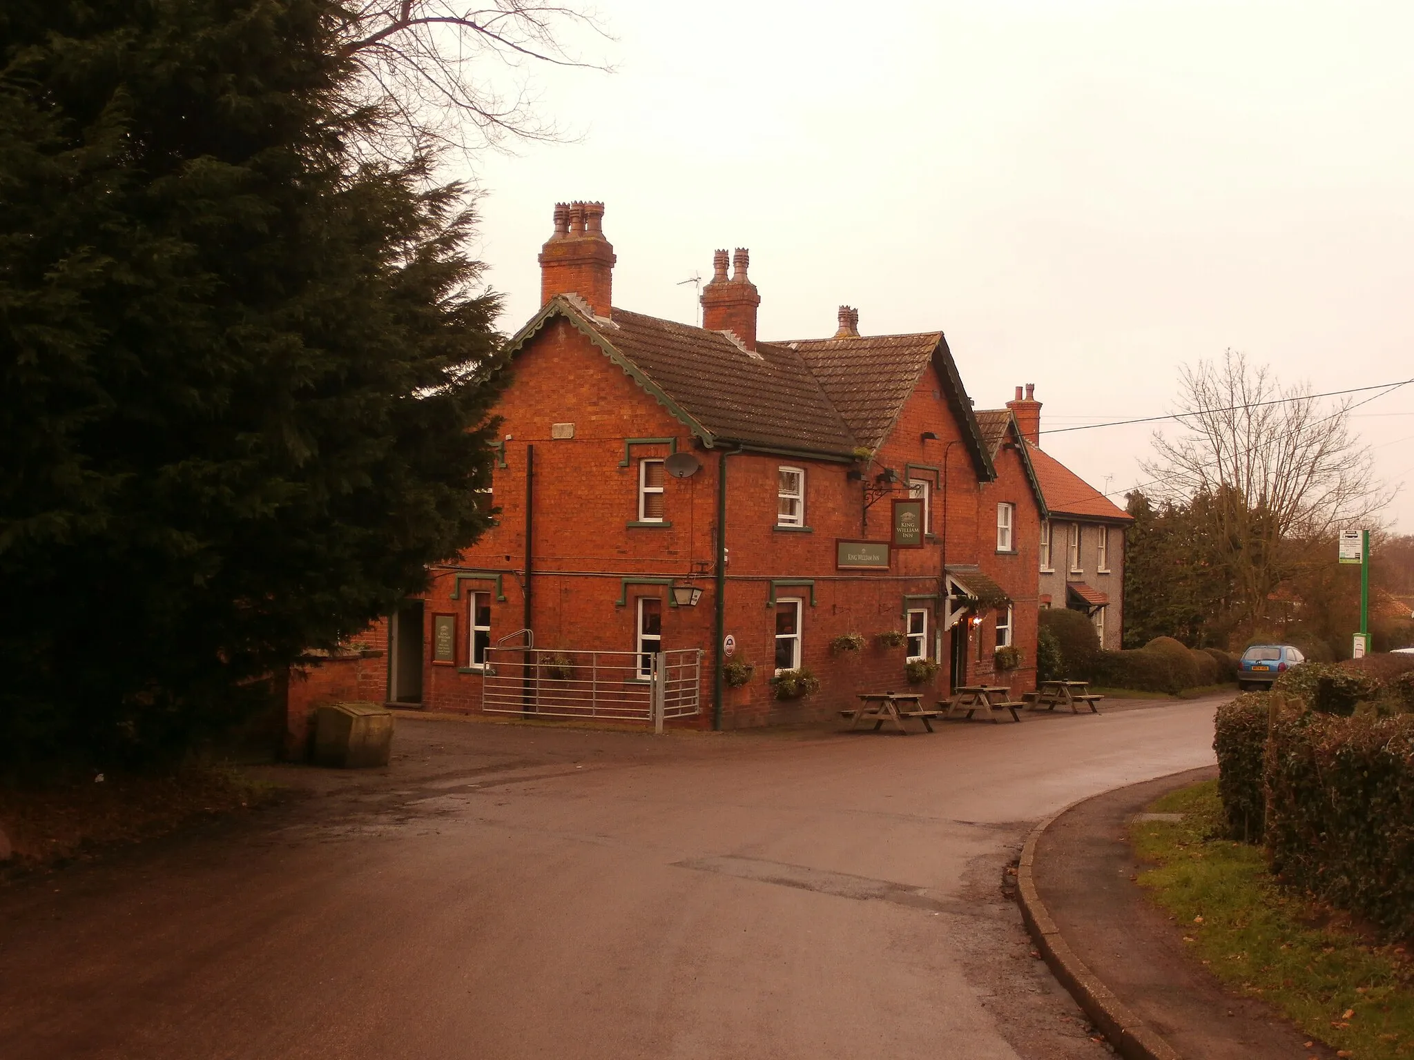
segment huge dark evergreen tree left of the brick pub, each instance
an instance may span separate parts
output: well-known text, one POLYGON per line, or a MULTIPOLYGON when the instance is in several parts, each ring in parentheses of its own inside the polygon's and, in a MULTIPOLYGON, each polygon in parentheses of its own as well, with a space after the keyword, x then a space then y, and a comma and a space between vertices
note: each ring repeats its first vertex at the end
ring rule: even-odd
POLYGON ((486 516, 461 188, 324 0, 0 4, 0 755, 154 753, 486 516))

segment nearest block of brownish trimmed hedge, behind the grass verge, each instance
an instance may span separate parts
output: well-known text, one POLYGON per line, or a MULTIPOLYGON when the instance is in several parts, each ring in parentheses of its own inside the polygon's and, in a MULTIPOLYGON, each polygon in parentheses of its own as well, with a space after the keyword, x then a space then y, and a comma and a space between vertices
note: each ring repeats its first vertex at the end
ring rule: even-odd
POLYGON ((1264 776, 1273 871, 1414 937, 1414 715, 1284 715, 1264 776))

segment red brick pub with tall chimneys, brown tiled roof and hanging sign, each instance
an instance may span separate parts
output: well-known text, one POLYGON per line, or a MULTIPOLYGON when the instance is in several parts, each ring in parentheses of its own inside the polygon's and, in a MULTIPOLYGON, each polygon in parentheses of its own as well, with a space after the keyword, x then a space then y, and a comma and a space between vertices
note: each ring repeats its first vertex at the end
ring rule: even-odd
POLYGON ((700 328, 617 308, 602 215, 554 209, 496 410, 498 526, 393 616, 387 698, 554 715, 632 700, 665 652, 700 659, 673 671, 684 724, 732 728, 905 691, 909 660, 939 664, 929 694, 993 680, 998 637, 1034 687, 1045 506, 943 334, 864 336, 841 307, 830 338, 758 341, 745 250, 717 252, 700 328), (800 667, 820 691, 776 698, 800 667))

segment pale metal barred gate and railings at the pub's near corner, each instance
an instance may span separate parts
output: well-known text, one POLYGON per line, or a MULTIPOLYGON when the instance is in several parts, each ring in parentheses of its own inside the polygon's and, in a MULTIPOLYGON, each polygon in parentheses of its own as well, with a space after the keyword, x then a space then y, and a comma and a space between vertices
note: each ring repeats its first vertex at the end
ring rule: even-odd
MULTIPOLYGON (((519 635, 526 636, 527 630, 519 635)), ((488 647, 481 709, 536 718, 652 722, 701 711, 697 647, 676 652, 574 652, 488 647)))

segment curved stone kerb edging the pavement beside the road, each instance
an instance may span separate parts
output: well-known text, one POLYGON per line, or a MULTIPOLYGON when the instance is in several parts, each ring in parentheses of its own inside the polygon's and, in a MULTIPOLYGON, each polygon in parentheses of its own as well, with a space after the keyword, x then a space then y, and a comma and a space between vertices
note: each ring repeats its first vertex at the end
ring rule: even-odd
MULTIPOLYGON (((1155 777, 1158 779, 1158 777, 1155 777)), ((1100 794, 1107 794, 1102 791, 1100 794)), ((1066 944, 1056 927, 1051 912, 1036 890, 1034 866, 1036 858, 1036 844, 1059 817, 1073 810, 1080 803, 1099 796, 1079 799, 1059 813, 1046 817, 1027 837, 1021 848, 1021 861, 1017 865, 1017 902, 1021 906, 1021 917, 1027 921, 1027 930, 1036 944, 1036 950, 1045 958, 1051 971, 1060 984, 1070 992, 1085 1015, 1110 1040, 1127 1060, 1184 1060, 1152 1027, 1147 1026, 1130 1008, 1120 1001, 1100 979, 1092 972, 1085 961, 1066 944)))

